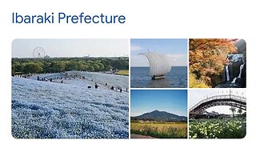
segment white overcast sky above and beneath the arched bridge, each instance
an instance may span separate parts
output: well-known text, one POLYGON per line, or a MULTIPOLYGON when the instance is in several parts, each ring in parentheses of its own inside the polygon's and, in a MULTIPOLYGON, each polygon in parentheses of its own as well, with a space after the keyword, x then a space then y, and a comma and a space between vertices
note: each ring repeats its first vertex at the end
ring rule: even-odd
MULTIPOLYGON (((204 90, 190 90, 189 92, 189 109, 205 98, 216 94, 230 94, 230 89, 204 89, 204 90)), ((231 94, 238 95, 246 98, 246 90, 244 89, 232 89, 231 94)), ((214 106, 210 107, 206 111, 217 111, 219 114, 232 114, 230 106, 214 106)), ((237 109, 238 110, 238 109, 237 109)))

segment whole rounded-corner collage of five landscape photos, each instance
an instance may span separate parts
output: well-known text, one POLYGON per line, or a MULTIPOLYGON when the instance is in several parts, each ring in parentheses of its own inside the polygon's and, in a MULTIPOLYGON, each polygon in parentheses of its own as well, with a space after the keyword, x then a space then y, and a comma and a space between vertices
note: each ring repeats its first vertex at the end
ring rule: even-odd
POLYGON ((239 38, 15 39, 14 138, 244 138, 239 38))

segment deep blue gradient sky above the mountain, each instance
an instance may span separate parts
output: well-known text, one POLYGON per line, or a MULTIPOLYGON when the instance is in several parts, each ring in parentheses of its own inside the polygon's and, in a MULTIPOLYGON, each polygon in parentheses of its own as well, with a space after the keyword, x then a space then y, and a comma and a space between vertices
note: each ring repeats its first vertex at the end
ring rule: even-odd
POLYGON ((130 115, 160 110, 186 116, 186 95, 186 90, 131 90, 130 115))

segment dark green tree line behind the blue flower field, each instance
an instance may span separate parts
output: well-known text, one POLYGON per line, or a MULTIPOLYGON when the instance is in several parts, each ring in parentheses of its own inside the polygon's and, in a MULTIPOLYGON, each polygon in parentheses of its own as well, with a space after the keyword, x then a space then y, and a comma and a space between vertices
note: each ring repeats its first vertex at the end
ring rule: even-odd
POLYGON ((12 58, 12 74, 129 70, 129 58, 12 58))

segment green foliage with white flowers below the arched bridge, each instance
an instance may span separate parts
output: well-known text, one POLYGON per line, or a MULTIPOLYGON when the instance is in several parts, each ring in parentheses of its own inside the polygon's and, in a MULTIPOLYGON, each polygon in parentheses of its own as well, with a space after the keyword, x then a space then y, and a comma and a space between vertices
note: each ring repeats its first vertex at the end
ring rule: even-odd
POLYGON ((245 118, 190 121, 190 138, 244 138, 245 136, 245 118))

